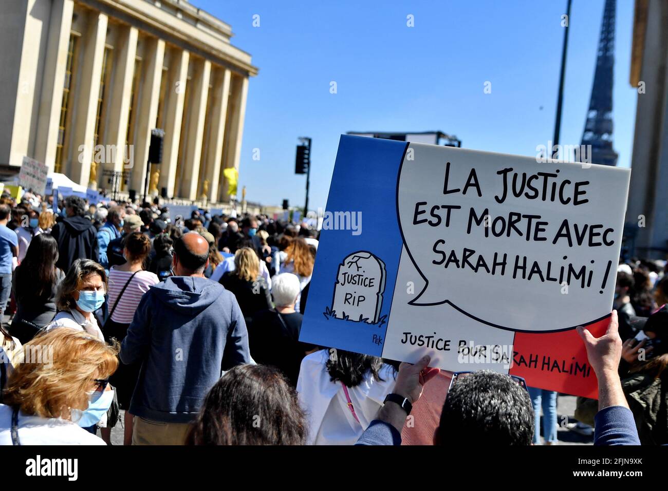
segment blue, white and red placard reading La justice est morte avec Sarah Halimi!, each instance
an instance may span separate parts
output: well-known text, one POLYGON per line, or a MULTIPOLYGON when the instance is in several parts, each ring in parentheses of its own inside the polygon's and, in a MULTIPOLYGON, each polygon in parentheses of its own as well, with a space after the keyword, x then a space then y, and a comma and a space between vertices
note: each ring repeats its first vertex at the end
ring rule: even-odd
POLYGON ((629 177, 342 136, 300 340, 596 397, 629 177))

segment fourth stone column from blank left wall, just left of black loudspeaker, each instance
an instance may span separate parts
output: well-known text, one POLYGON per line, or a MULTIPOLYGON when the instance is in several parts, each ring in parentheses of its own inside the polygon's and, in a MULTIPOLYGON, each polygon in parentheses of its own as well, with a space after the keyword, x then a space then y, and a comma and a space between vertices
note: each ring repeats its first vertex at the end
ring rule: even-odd
POLYGON ((136 190, 138 196, 144 196, 146 160, 148 160, 148 147, 151 143, 151 130, 158 115, 164 53, 165 43, 162 39, 146 39, 142 77, 144 80, 140 91, 141 98, 138 102, 137 136, 134 144, 132 178, 130 179, 130 189, 136 190))

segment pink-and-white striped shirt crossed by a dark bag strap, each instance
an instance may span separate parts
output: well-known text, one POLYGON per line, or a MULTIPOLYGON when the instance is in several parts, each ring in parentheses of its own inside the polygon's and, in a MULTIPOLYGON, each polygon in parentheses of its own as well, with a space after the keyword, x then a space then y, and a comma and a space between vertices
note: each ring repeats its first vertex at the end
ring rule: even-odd
MULTIPOLYGON (((118 294, 121 293, 123 287, 128 283, 128 280, 132 277, 132 273, 132 271, 119 271, 114 267, 109 270, 109 311, 114 307, 118 294)), ((142 295, 148 291, 149 287, 158 283, 160 283, 160 280, 158 280, 155 273, 140 271, 134 275, 134 278, 130 281, 130 285, 123 292, 123 296, 118 301, 118 305, 116 305, 112 321, 120 324, 131 323, 134 311, 137 310, 142 295)))

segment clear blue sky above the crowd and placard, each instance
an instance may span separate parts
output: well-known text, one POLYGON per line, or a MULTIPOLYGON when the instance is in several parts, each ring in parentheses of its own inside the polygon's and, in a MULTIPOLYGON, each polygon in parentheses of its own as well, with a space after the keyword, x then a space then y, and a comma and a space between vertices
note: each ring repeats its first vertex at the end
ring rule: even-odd
MULTIPOLYGON (((466 148, 527 156, 552 139, 566 0, 191 3, 232 25, 232 45, 260 69, 248 88, 239 171, 249 201, 303 206, 298 136, 313 138, 309 209, 325 207, 339 135, 349 131, 440 130, 466 148)), ((603 4, 573 1, 562 144, 582 138, 603 4)), ((625 167, 637 98, 629 85, 632 23, 633 1, 619 0, 614 148, 625 167)))

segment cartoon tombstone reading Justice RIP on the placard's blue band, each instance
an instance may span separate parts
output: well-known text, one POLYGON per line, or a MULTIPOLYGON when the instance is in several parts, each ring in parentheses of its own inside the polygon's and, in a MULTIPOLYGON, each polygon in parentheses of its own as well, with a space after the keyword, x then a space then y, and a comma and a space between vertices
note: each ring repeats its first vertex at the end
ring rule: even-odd
POLYGON ((331 309, 337 319, 375 324, 384 291, 385 263, 368 251, 349 254, 337 271, 331 309))

